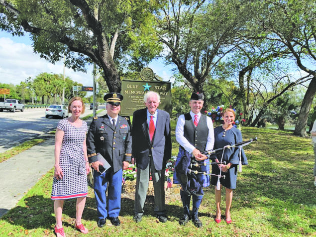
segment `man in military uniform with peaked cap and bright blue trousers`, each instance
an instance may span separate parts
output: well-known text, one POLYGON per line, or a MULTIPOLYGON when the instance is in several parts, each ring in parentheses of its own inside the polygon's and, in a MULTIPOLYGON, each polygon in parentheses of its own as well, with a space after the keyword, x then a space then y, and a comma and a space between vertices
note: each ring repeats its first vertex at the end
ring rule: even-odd
POLYGON ((126 119, 118 115, 123 96, 119 93, 105 95, 106 115, 95 117, 87 135, 89 162, 93 167, 94 189, 98 210, 98 226, 105 225, 108 218, 113 226, 119 226, 121 207, 122 169, 131 161, 130 126, 126 119), (97 159, 100 153, 111 167, 101 174, 97 159), (108 185, 107 201, 105 191, 108 185))

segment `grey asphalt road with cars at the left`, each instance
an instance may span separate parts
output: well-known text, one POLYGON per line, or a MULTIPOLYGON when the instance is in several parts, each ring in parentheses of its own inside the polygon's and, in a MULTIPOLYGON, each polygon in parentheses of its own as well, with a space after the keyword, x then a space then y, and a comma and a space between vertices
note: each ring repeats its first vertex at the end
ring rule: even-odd
MULTIPOLYGON (((0 153, 9 150, 21 142, 44 134, 56 128, 58 119, 45 118, 46 108, 26 109, 24 112, 0 112, 0 153)), ((99 110, 101 107, 99 107, 99 110)), ((81 117, 93 114, 86 108, 81 117)), ((101 113, 101 115, 105 114, 101 113)), ((98 116, 101 116, 98 115, 98 116)))

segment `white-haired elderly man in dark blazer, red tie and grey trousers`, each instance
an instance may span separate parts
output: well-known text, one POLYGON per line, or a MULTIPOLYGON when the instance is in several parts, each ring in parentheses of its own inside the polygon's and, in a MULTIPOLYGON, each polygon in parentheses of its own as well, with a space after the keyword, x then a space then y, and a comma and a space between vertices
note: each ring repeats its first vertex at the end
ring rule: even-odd
POLYGON ((148 92, 144 96, 146 108, 133 115, 132 154, 136 160, 137 181, 135 192, 134 221, 140 222, 144 214, 149 176, 155 192, 155 214, 160 222, 165 216, 165 167, 171 157, 170 116, 158 110, 160 96, 148 92))

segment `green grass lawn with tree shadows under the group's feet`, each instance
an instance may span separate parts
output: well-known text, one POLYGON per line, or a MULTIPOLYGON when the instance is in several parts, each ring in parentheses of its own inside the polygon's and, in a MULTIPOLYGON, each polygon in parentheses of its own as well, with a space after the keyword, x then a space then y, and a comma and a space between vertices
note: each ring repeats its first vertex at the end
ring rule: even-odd
MULTIPOLYGON (((173 155, 178 145, 173 130, 173 155)), ((311 139, 278 131, 243 127, 244 140, 258 137, 245 146, 249 161, 238 174, 231 207, 232 224, 214 222, 216 212, 214 187, 205 188, 199 216, 202 228, 192 222, 180 226, 182 203, 179 194, 166 198, 169 221, 159 223, 154 217, 153 196, 145 204, 146 215, 139 224, 133 222, 133 195, 122 196, 120 227, 107 221, 97 226, 93 189, 89 188, 83 224, 89 236, 316 236, 316 187, 313 184, 314 152, 311 139)), ((0 236, 54 236, 53 202, 50 200, 53 172, 43 178, 0 220, 0 236)), ((63 225, 68 236, 82 236, 74 228, 75 200, 66 200, 63 225)), ((224 214, 224 190, 222 191, 224 214)))

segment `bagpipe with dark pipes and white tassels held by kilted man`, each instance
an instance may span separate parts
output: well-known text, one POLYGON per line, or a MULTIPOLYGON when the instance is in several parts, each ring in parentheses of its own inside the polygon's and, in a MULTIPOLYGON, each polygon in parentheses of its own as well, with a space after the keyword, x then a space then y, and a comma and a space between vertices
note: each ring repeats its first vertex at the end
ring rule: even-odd
MULTIPOLYGON (((202 175, 210 175, 210 176, 217 176, 217 184, 216 184, 216 189, 219 190, 220 189, 220 182, 219 182, 219 179, 220 178, 225 178, 225 175, 222 175, 221 172, 221 166, 219 167, 219 174, 212 174, 212 173, 208 173, 206 171, 206 167, 207 165, 210 165, 210 164, 226 164, 225 161, 222 161, 223 159, 223 154, 224 154, 224 151, 225 149, 231 149, 231 148, 240 148, 239 149, 239 166, 238 166, 238 171, 241 172, 241 147, 245 146, 245 145, 248 145, 250 144, 251 142, 253 141, 256 141, 257 140, 257 137, 253 138, 253 139, 250 139, 250 140, 247 140, 247 141, 242 141, 242 142, 238 142, 236 144, 233 144, 233 145, 226 145, 224 147, 220 147, 220 148, 217 148, 217 149, 211 149, 211 150, 205 150, 205 151, 202 151, 201 153, 202 154, 205 154, 205 155, 214 155, 216 152, 218 151, 221 151, 222 150, 222 155, 221 155, 221 159, 219 162, 207 162, 207 161, 197 161, 195 159, 195 157, 193 155, 191 155, 191 163, 187 169, 188 171, 188 174, 202 174, 202 175), (200 168, 200 170, 199 170, 200 168)), ((217 159, 218 160, 218 159, 217 159)))

